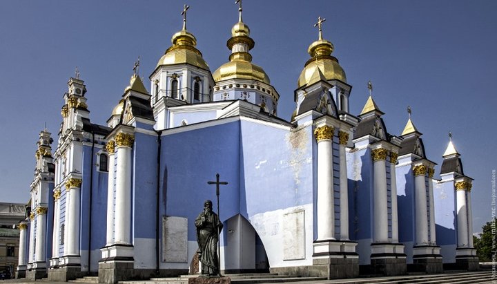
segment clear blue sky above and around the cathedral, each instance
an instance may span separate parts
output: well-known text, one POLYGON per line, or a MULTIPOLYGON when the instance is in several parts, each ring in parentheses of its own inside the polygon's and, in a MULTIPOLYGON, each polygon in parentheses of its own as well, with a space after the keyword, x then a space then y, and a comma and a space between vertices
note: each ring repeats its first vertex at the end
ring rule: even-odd
MULTIPOLYGON (((188 30, 211 71, 228 60, 237 21, 234 0, 186 1, 188 30)), ((306 50, 323 36, 353 86, 351 113, 367 100, 367 81, 387 130, 400 135, 407 105, 438 163, 448 131, 473 184, 474 231, 491 216, 491 170, 497 168, 497 1, 246 0, 244 22, 253 61, 280 93, 287 120, 306 50)), ((79 67, 92 122, 105 124, 141 58, 146 78, 182 28, 183 1, 2 1, 0 3, 0 201, 27 202, 39 131, 55 139, 62 95, 79 67)))

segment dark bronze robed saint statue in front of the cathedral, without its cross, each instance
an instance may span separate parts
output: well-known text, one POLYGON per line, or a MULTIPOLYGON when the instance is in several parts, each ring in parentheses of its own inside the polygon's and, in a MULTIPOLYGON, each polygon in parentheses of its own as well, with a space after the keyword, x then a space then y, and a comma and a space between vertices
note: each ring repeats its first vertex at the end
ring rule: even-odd
POLYGON ((217 242, 223 225, 212 210, 211 200, 204 202, 204 211, 195 219, 195 226, 197 227, 199 261, 202 263, 201 273, 208 276, 219 275, 217 242))

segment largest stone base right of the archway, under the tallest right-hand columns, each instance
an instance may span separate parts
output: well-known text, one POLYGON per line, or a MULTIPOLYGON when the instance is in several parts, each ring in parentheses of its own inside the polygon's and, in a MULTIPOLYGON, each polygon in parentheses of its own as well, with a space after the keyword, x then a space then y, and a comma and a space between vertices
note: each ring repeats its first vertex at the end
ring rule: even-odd
POLYGON ((350 240, 316 240, 313 243, 314 276, 328 279, 359 276, 357 245, 350 240))

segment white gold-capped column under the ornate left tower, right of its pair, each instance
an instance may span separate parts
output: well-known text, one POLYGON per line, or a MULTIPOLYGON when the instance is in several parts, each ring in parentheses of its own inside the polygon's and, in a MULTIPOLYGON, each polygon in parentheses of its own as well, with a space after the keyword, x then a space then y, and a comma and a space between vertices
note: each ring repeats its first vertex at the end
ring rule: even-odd
POLYGON ((81 180, 77 178, 70 178, 66 182, 66 188, 70 189, 69 206, 66 211, 69 211, 69 220, 66 222, 67 240, 65 244, 67 247, 67 254, 70 256, 79 256, 79 214, 81 211, 81 180))

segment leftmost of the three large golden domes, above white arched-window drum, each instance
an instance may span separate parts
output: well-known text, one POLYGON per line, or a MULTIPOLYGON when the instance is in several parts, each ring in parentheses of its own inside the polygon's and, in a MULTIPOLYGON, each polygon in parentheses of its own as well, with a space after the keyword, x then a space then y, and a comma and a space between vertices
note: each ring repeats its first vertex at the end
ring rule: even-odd
POLYGON ((166 53, 162 55, 157 63, 157 67, 161 65, 172 65, 172 64, 191 64, 199 68, 209 70, 209 67, 195 46, 197 45, 197 39, 195 36, 188 32, 188 30, 180 30, 173 35, 171 39, 173 46, 170 46, 166 50, 166 53))

